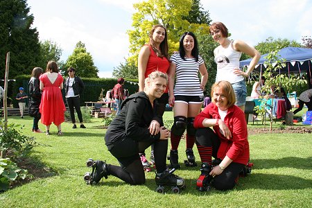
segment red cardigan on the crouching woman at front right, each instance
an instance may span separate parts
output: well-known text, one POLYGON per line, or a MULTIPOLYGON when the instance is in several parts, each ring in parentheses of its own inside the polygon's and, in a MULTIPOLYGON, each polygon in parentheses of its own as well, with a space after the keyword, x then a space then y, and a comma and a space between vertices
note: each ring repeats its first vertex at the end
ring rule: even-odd
MULTIPOLYGON (((214 103, 207 105, 205 109, 196 116, 194 127, 205 128, 202 125, 204 119, 220 119, 218 107, 214 103)), ((227 155, 233 162, 247 164, 250 153, 247 123, 245 121, 244 112, 236 105, 229 107, 224 122, 232 132, 232 138, 226 139, 221 134, 219 126, 214 126, 214 132, 216 132, 216 135, 220 139, 220 147, 217 154, 218 158, 224 159, 225 155, 227 155)))

